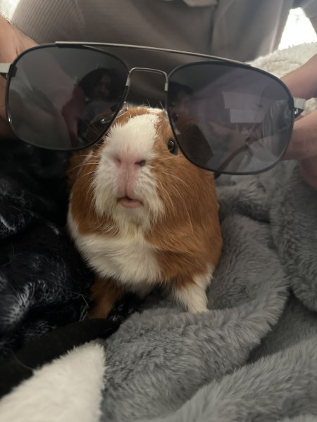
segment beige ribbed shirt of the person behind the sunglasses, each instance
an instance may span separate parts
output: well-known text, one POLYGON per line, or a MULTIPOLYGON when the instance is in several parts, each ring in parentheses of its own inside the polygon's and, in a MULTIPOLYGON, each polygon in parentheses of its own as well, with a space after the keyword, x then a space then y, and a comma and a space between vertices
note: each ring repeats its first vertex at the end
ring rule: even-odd
POLYGON ((13 16, 39 43, 103 41, 252 60, 277 48, 290 8, 316 0, 21 0, 13 16))

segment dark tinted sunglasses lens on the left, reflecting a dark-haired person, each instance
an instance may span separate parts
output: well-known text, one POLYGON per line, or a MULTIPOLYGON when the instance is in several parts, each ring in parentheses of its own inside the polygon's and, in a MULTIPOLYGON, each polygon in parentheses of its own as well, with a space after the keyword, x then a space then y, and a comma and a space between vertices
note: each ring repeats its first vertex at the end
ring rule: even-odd
POLYGON ((7 110, 15 134, 36 146, 83 148, 97 141, 118 113, 128 69, 88 47, 44 46, 11 66, 7 110))

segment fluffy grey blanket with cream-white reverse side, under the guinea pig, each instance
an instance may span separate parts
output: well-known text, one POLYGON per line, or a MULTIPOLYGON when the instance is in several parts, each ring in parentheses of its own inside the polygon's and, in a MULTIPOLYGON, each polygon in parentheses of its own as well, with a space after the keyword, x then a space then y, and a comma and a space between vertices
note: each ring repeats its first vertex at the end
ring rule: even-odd
MULTIPOLYGON (((256 64, 281 75, 316 52, 256 64)), ((281 162, 221 176, 218 200, 224 248, 209 312, 151 293, 110 338, 4 396, 4 421, 317 420, 317 192, 296 163, 281 162)))

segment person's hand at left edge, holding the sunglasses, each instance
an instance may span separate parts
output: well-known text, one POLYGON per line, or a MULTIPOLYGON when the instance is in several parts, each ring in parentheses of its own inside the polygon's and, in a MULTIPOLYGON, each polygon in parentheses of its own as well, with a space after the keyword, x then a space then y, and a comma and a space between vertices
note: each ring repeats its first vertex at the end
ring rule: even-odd
MULTIPOLYGON (((11 63, 22 51, 35 46, 35 41, 26 37, 0 15, 0 63, 11 63)), ((6 79, 0 76, 0 137, 11 137, 13 133, 6 117, 6 79)))

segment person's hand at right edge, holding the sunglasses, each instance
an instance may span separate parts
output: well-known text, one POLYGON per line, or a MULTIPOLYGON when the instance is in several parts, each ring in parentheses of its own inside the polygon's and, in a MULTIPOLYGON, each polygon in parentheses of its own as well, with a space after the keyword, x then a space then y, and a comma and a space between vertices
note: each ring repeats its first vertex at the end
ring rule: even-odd
MULTIPOLYGON (((317 54, 282 77, 282 81, 294 97, 317 97, 317 54)), ((283 159, 299 161, 303 179, 317 188, 317 110, 294 122, 290 146, 283 159)))

